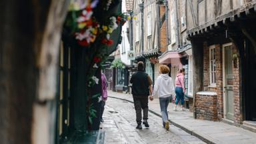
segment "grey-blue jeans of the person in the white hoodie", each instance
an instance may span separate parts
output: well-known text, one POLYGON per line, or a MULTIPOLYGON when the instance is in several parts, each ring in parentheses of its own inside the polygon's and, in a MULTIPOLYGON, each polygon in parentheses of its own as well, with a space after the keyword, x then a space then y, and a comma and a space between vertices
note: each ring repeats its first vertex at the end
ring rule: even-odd
POLYGON ((164 125, 165 121, 168 121, 167 107, 168 107, 170 101, 171 101, 171 96, 170 97, 159 97, 163 125, 164 125))

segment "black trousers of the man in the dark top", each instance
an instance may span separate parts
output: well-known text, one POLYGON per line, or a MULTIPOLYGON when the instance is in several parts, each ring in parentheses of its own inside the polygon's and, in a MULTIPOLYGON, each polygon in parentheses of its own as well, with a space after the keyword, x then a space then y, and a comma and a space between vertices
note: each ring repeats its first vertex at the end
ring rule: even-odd
POLYGON ((137 124, 141 124, 141 109, 143 109, 143 120, 148 119, 148 113, 149 113, 149 98, 147 96, 145 97, 133 97, 134 107, 136 111, 136 121, 137 124))

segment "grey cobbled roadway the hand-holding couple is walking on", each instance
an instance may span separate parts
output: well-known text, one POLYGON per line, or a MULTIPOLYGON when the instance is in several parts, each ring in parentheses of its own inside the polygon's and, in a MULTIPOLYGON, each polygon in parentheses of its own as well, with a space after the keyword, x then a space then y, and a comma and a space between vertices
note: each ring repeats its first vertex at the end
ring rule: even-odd
MULTIPOLYGON (((119 99, 108 98, 103 115, 104 123, 101 127, 105 130, 105 143, 204 143, 197 137, 189 135, 182 129, 170 125, 166 131, 161 122, 161 117, 149 113, 149 128, 135 129, 135 109, 132 103, 119 99)), ((144 126, 144 125, 143 125, 144 126)))

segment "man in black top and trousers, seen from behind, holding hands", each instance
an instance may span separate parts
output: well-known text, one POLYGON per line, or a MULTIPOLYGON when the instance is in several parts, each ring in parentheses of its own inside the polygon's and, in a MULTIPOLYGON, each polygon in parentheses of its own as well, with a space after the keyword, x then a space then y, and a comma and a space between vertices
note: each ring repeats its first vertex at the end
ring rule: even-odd
POLYGON ((147 123, 149 113, 149 99, 152 99, 152 80, 147 73, 144 71, 144 65, 142 61, 137 63, 137 72, 131 76, 130 83, 133 84, 131 93, 133 94, 133 102, 136 111, 136 129, 142 129, 141 127, 141 109, 143 109, 143 124, 145 127, 149 127, 147 123), (150 95, 150 97, 149 97, 150 95))

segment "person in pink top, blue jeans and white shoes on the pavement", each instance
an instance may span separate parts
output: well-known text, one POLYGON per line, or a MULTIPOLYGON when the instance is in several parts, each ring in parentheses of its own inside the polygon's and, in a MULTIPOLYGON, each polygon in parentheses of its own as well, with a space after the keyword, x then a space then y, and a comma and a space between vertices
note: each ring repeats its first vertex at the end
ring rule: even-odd
POLYGON ((181 111, 183 111, 183 104, 184 104, 184 93, 185 93, 185 85, 184 85, 184 75, 185 69, 180 69, 179 73, 175 79, 175 107, 173 107, 173 111, 177 111, 177 105, 179 101, 181 101, 181 111))

